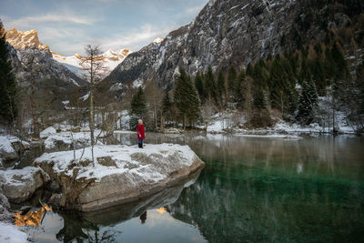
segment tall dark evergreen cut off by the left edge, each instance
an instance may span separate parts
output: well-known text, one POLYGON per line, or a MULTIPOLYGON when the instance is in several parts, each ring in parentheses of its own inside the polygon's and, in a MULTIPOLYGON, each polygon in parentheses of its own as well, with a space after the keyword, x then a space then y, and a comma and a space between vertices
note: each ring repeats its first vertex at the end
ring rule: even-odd
POLYGON ((9 123, 16 117, 16 83, 13 68, 8 58, 8 49, 3 35, 3 24, 0 21, 0 116, 9 123))

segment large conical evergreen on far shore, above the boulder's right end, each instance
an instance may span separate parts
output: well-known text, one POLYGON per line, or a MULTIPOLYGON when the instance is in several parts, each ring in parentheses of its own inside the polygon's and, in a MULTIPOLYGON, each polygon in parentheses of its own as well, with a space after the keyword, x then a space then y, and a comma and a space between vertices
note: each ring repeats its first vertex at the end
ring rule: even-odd
POLYGON ((179 68, 174 99, 183 117, 184 128, 187 126, 187 120, 192 126, 199 116, 199 99, 196 87, 183 68, 179 68))

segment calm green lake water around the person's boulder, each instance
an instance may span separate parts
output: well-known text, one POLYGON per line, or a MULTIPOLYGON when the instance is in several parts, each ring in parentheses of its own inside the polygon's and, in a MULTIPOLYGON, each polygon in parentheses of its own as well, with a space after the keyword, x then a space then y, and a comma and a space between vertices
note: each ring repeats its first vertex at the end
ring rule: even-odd
MULTIPOLYGON (((135 135, 116 135, 136 144, 135 135)), ((362 242, 364 139, 162 136, 206 163, 197 180, 94 214, 50 212, 35 241, 362 242), (165 213, 156 208, 164 207, 165 213), (147 217, 139 218, 145 211, 147 217)))

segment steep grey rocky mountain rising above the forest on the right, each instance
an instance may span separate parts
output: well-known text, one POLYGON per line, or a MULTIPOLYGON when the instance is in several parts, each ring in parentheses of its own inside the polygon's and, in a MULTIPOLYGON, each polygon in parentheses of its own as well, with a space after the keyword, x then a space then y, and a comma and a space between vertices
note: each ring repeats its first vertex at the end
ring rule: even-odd
POLYGON ((243 69, 287 48, 324 41, 363 8, 355 0, 210 0, 191 24, 127 56, 105 83, 122 95, 146 80, 172 88, 179 66, 191 76, 208 66, 243 69))

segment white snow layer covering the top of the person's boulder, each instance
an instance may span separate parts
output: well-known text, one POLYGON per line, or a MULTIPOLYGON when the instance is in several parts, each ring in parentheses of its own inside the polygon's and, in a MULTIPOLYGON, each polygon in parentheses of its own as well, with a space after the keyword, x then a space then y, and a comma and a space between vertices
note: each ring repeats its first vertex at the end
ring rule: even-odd
MULTIPOLYGON (((82 156, 83 149, 76 150, 76 159, 79 160, 82 156)), ((136 156, 149 157, 164 157, 166 160, 157 158, 157 162, 169 161, 167 157, 175 156, 176 153, 181 158, 180 165, 191 166, 194 162, 196 154, 188 146, 180 146, 173 144, 160 144, 160 145, 145 145, 145 147, 138 148, 137 146, 96 146, 94 147, 95 167, 90 163, 86 167, 80 167, 77 178, 96 178, 99 180, 101 177, 116 173, 130 172, 132 174, 158 181, 167 177, 158 172, 157 168, 150 163, 142 163, 136 161, 136 156), (143 155, 141 155, 143 154, 143 155), (111 157, 116 162, 116 167, 106 167, 100 165, 97 158, 111 157)), ((54 170, 57 173, 66 172, 66 175, 71 176, 72 170, 67 167, 74 163, 74 152, 64 151, 56 153, 45 153, 41 157, 35 159, 35 163, 51 163, 54 162, 54 170)), ((81 161, 92 161, 91 147, 86 147, 81 161)))

